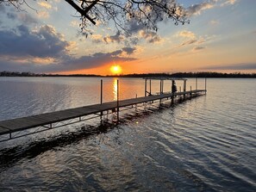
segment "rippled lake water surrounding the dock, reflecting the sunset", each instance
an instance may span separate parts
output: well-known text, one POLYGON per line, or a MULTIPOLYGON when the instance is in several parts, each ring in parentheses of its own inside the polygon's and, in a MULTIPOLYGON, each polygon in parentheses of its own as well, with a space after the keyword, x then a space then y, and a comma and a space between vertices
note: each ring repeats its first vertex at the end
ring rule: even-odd
MULTIPOLYGON (((119 81, 121 99, 144 95, 142 79, 119 81)), ((115 101, 116 78, 103 90, 115 101)), ((114 114, 2 142, 0 191, 256 191, 256 79, 208 79, 207 90, 118 124, 114 114)), ((99 102, 97 77, 0 77, 0 121, 99 102)))

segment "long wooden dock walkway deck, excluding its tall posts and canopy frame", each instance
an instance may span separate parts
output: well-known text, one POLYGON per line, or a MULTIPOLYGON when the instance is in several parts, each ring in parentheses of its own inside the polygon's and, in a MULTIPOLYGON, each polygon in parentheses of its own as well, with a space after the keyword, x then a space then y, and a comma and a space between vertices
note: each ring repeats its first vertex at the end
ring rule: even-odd
MULTIPOLYGON (((84 106, 80 108, 70 108, 70 109, 60 110, 52 113, 32 115, 32 116, 27 116, 27 117, 22 117, 22 118, 7 120, 7 121, 0 121, 0 136, 5 134, 8 135, 7 139, 2 139, 1 141, 17 138, 16 136, 13 136, 13 133, 21 132, 34 127, 44 127, 44 129, 41 131, 46 131, 48 129, 55 128, 53 127, 53 123, 56 123, 59 121, 68 121, 76 118, 78 118, 78 121, 83 121, 81 120, 81 117, 87 116, 87 115, 102 115, 104 111, 109 111, 109 110, 119 111, 119 108, 125 108, 128 106, 133 106, 140 103, 153 102, 153 101, 162 100, 165 98, 172 99, 174 96, 192 96, 195 94, 204 93, 205 91, 206 90, 190 90, 190 91, 184 91, 184 92, 176 92, 173 94, 163 93, 160 95, 142 96, 142 97, 126 99, 122 101, 105 102, 102 104, 95 104, 95 105, 84 106)), ((41 131, 38 131, 35 133, 39 133, 41 131)), ((27 133, 25 135, 28 135, 28 134, 31 134, 31 133, 27 133)), ((21 137, 21 136, 18 136, 18 137, 21 137)))

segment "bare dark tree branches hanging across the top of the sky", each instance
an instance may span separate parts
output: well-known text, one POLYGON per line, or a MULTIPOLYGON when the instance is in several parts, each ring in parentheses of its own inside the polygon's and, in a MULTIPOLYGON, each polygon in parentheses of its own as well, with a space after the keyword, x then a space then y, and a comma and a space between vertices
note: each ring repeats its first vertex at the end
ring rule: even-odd
MULTIPOLYGON (((47 1, 47 0, 46 0, 47 1)), ((119 32, 131 33, 131 23, 158 30, 158 22, 172 20, 175 25, 189 23, 186 11, 175 0, 65 0, 80 13, 81 30, 89 34, 91 24, 113 22, 119 32)), ((21 9, 26 0, 0 0, 21 9)), ((29 6, 29 5, 28 5, 29 6)))

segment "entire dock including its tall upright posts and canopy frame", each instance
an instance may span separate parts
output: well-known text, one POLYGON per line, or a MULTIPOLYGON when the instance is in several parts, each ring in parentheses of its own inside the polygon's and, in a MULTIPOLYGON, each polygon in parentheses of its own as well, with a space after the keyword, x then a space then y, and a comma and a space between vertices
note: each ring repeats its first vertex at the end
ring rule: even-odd
MULTIPOLYGON (((16 139, 22 136, 26 136, 33 133, 40 133, 57 127, 64 127, 80 121, 86 121, 92 118, 102 117, 103 115, 109 115, 109 113, 116 112, 117 119, 119 119, 120 108, 133 108, 140 103, 153 103, 154 101, 169 100, 173 102, 175 97, 179 99, 192 98, 198 94, 206 92, 206 81, 205 90, 185 90, 186 79, 175 79, 175 78, 145 78, 145 96, 136 97, 126 100, 119 100, 118 98, 118 80, 116 82, 116 101, 104 102, 103 103, 103 81, 101 81, 101 103, 90 106, 84 106, 80 108, 70 108, 66 110, 55 111, 51 113, 32 115, 22 118, 16 118, 13 120, 0 121, 0 142, 16 139), (151 80, 160 80, 160 92, 157 95, 151 93, 151 80), (150 90, 147 91, 147 80, 150 81, 150 90), (184 91, 169 93, 163 92, 164 80, 171 80, 172 84, 174 80, 184 81, 184 91), (28 132, 27 132, 28 131, 28 132), (21 132, 25 132, 22 133, 21 132)), ((197 88, 197 86, 196 86, 197 88)))

